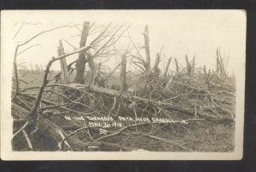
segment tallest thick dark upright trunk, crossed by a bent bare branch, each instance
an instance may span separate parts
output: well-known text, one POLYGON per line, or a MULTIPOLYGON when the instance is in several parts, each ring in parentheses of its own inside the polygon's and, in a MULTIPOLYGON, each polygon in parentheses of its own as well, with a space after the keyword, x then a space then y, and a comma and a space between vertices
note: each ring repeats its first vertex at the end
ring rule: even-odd
MULTIPOLYGON (((81 39, 80 39, 80 48, 85 46, 89 30, 90 30, 90 22, 85 21, 83 31, 82 31, 82 35, 81 35, 81 39)), ((79 60, 76 63, 77 73, 76 73, 76 77, 74 79, 74 83, 84 83, 85 63, 86 63, 85 52, 81 51, 79 53, 79 60)))

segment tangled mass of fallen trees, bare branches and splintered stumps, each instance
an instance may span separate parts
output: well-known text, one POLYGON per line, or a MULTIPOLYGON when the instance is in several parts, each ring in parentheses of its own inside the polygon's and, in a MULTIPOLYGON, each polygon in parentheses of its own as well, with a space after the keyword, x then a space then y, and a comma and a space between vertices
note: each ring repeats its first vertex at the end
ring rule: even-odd
MULTIPOLYGON (((133 89, 126 88, 126 54, 131 54, 127 49, 121 55, 121 89, 108 89, 96 84, 94 59, 116 43, 120 37, 116 33, 122 27, 108 32, 109 24, 85 46, 90 24, 84 23, 80 49, 64 54, 60 41, 59 55, 49 60, 41 85, 19 88, 19 83, 15 82, 12 91, 13 142, 22 133, 31 150, 132 151, 143 148, 161 151, 168 144, 170 147, 166 150, 190 152, 193 149, 171 141, 166 130, 169 132, 173 126, 186 129, 187 124, 194 122, 233 123, 236 118, 236 80, 225 72, 219 50, 216 71, 209 69, 207 72, 206 67, 195 68, 195 57, 189 61, 186 56, 187 66, 179 66, 175 59, 176 73, 168 75, 170 58, 164 75, 161 75, 160 53, 156 55, 153 69, 150 67, 148 26, 144 33, 146 60, 138 51, 131 55, 137 60, 134 64, 142 69, 138 81, 130 86, 133 89), (102 39, 105 42, 101 43, 102 39), (92 49, 93 54, 90 53, 92 49), (74 82, 70 83, 68 79, 68 82, 58 83, 58 78, 66 81, 63 77, 68 76, 67 71, 75 62, 70 68, 65 62, 61 63, 61 74, 55 76, 55 83, 51 82, 50 66, 58 60, 66 61, 65 58, 72 54, 79 54, 74 82), (87 81, 84 77, 87 62, 90 82, 81 84, 87 81), (44 143, 38 143, 36 135, 43 138, 44 143), (141 138, 144 143, 153 144, 154 148, 135 145, 141 138), (34 143, 41 144, 43 148, 33 146, 34 143)), ((100 71, 100 67, 97 70, 100 71)), ((17 72, 15 67, 15 81, 17 72)), ((108 77, 103 80, 108 80, 108 77)))

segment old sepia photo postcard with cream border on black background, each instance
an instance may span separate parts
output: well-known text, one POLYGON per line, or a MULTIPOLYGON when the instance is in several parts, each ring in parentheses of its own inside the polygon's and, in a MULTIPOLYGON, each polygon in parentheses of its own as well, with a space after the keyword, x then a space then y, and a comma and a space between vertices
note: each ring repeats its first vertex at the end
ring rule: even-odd
POLYGON ((241 158, 246 12, 2 11, 1 36, 1 158, 241 158))

